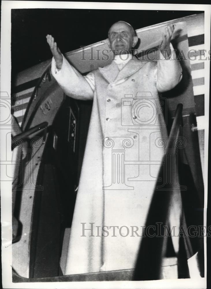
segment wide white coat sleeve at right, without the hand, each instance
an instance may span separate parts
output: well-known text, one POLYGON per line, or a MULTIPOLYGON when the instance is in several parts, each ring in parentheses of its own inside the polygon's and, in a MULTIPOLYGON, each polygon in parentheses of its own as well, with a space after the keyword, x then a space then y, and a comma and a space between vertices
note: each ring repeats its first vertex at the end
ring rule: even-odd
POLYGON ((156 87, 159 92, 165 92, 174 88, 182 79, 182 67, 180 61, 176 60, 175 51, 170 44, 171 57, 167 60, 163 54, 158 52, 157 65, 154 68, 156 87))

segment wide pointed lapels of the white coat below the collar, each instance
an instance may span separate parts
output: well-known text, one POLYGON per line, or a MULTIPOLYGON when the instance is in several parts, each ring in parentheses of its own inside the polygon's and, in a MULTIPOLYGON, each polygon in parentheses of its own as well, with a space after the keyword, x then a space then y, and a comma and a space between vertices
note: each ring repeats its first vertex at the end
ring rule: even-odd
POLYGON ((136 71, 138 71, 147 61, 130 60, 128 63, 119 71, 117 64, 112 61, 111 64, 105 67, 99 67, 100 73, 109 82, 116 82, 126 77, 129 77, 136 71))

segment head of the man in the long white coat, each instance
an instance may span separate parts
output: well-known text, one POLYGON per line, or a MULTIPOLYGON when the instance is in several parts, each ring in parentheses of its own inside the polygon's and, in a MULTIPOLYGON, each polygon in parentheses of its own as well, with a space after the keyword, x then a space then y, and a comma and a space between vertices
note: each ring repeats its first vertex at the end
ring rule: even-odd
POLYGON ((137 43, 131 27, 124 22, 117 22, 109 29, 109 43, 115 54, 130 53, 131 48, 137 43))

